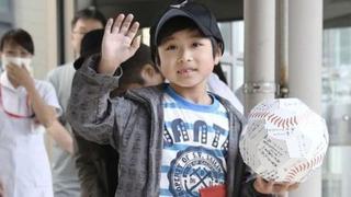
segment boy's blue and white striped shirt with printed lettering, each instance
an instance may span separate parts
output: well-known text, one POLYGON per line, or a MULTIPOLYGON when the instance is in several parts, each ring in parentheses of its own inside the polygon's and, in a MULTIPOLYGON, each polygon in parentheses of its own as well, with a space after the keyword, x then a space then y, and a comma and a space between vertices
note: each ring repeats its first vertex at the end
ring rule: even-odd
POLYGON ((201 188, 225 183, 229 123, 211 96, 211 105, 199 105, 166 90, 161 197, 196 197, 201 188))

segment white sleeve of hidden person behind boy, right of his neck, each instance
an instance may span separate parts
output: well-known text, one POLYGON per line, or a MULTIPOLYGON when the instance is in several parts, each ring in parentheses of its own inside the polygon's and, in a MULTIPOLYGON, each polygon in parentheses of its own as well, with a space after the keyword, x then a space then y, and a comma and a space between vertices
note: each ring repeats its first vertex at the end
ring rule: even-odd
POLYGON ((235 106, 241 114, 244 114, 244 106, 238 100, 238 97, 234 94, 234 92, 229 89, 227 84, 225 84, 215 73, 211 73, 207 79, 207 88, 210 92, 213 92, 226 100, 228 100, 233 106, 235 106))

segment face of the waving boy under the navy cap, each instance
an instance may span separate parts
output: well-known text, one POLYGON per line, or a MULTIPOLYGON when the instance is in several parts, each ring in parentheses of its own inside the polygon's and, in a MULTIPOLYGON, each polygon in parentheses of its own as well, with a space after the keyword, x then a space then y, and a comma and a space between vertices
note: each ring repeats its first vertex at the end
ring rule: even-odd
POLYGON ((211 39, 197 30, 173 33, 158 46, 158 53, 162 74, 173 88, 182 89, 206 89, 206 79, 220 58, 219 51, 213 51, 211 39))

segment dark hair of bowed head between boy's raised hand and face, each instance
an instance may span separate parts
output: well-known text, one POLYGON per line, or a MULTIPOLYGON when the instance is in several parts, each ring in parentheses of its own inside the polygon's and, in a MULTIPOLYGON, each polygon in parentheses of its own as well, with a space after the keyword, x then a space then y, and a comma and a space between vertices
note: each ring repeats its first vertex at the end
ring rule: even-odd
POLYGON ((140 44, 140 47, 137 49, 135 55, 121 65, 123 74, 120 79, 120 84, 122 86, 131 83, 138 83, 141 85, 145 84, 145 80, 141 77, 141 70, 147 63, 151 65, 155 70, 158 71, 158 68, 155 66, 150 54, 150 47, 145 44, 140 44))

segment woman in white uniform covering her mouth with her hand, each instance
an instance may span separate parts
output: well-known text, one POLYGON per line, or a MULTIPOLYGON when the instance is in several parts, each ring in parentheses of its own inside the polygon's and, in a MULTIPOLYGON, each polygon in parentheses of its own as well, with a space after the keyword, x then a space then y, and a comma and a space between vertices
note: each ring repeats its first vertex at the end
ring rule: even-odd
POLYGON ((61 112, 55 90, 50 83, 33 78, 34 44, 26 31, 8 31, 0 40, 0 51, 4 68, 0 76, 2 190, 8 197, 52 197, 52 173, 41 126, 59 144, 67 144, 69 138, 67 132, 50 130, 61 112))

